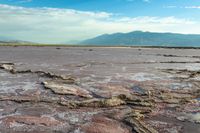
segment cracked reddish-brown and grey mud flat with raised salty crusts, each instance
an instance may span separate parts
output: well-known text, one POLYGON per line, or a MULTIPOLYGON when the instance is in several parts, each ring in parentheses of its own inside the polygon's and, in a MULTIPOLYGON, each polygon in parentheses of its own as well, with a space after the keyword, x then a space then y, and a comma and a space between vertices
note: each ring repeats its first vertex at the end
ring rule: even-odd
POLYGON ((1 133, 199 133, 200 50, 0 47, 1 133))

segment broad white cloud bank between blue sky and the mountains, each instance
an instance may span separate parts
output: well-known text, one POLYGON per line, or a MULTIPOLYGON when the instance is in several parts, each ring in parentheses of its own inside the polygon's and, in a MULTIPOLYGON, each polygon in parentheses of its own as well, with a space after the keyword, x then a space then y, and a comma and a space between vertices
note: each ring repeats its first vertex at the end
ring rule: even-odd
POLYGON ((59 43, 133 30, 200 33, 199 23, 170 17, 120 17, 107 12, 0 5, 0 36, 59 43))

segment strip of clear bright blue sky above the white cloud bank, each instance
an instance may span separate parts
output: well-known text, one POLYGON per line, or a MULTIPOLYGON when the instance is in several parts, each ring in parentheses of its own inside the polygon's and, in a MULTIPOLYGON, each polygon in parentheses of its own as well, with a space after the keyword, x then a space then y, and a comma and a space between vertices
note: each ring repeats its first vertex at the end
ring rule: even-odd
POLYGON ((199 0, 0 0, 0 3, 24 7, 104 11, 131 17, 173 15, 193 18, 200 15, 199 10, 185 8, 200 6, 199 0))

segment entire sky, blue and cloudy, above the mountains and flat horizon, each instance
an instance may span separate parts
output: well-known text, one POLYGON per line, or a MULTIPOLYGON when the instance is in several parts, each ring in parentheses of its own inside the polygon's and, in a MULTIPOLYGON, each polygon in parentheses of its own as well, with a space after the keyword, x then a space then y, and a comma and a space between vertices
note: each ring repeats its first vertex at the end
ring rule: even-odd
POLYGON ((0 0, 0 39, 70 43, 135 30, 200 34, 200 0, 0 0))

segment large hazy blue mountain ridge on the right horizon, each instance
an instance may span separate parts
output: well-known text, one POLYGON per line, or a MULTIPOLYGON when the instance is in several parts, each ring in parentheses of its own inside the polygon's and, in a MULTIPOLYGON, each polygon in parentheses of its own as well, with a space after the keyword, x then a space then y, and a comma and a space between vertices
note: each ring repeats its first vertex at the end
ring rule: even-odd
POLYGON ((200 47, 200 35, 133 31, 103 34, 81 42, 83 45, 108 46, 194 46, 200 47))

